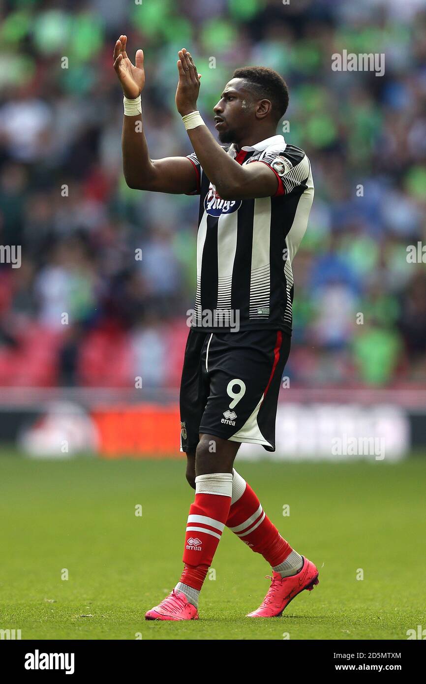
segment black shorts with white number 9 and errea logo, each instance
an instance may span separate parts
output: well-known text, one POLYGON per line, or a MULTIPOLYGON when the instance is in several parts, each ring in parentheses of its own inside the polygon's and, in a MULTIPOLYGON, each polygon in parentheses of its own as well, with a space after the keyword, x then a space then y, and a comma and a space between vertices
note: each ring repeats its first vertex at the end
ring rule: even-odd
POLYGON ((281 330, 190 330, 181 380, 181 451, 199 434, 275 451, 275 420, 291 337, 281 330))

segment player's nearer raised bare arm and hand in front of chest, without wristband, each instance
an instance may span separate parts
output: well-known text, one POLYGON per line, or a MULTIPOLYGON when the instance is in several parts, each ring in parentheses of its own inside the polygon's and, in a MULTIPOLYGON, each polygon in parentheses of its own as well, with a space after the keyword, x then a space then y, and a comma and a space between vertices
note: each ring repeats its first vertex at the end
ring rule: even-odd
MULTIPOLYGON (((185 49, 179 51, 176 107, 181 116, 197 111, 200 74, 185 49)), ((200 166, 224 200, 244 200, 275 195, 280 182, 271 168, 261 162, 241 166, 215 141, 207 126, 187 131, 200 166)))

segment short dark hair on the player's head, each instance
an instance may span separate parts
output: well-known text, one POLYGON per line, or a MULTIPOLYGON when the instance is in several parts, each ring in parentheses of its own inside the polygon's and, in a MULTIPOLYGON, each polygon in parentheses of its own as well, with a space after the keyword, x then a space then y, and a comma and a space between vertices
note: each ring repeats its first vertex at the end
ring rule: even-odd
POLYGON ((243 66, 235 69, 232 78, 248 81, 249 90, 256 97, 270 100, 277 122, 284 116, 289 106, 289 89, 274 69, 267 66, 243 66))

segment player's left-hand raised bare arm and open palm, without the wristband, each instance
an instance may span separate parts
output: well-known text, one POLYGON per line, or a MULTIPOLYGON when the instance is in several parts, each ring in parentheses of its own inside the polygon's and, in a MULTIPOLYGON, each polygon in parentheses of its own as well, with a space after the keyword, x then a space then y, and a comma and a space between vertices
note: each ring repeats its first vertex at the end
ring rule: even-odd
MULTIPOLYGON (((120 36, 114 48, 114 69, 124 96, 135 100, 145 85, 144 53, 137 50, 135 64, 132 64, 126 45, 127 36, 120 36)), ((123 117, 122 158, 124 178, 129 187, 173 194, 196 192, 196 170, 187 157, 150 159, 142 114, 123 117)))

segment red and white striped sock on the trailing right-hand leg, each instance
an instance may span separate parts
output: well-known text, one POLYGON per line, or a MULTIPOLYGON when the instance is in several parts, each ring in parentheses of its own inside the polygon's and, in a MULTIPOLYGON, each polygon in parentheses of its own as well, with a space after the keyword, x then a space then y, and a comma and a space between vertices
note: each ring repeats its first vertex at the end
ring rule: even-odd
POLYGON ((252 551, 261 553, 282 577, 294 575, 302 568, 302 556, 282 538, 250 485, 236 470, 233 471, 232 500, 226 527, 252 551))

